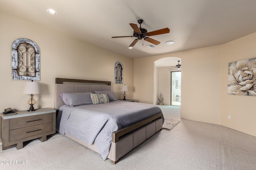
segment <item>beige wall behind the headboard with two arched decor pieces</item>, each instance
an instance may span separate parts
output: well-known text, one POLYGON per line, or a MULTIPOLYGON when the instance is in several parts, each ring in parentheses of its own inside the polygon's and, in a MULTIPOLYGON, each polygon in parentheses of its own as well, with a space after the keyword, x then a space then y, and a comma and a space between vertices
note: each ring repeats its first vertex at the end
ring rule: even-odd
POLYGON ((112 91, 118 99, 122 98, 122 84, 114 84, 117 61, 124 67, 124 84, 129 90, 127 97, 133 98, 133 59, 3 13, 0 13, 0 25, 0 111, 7 107, 16 110, 29 108, 29 95, 22 94, 24 80, 11 78, 11 45, 18 38, 34 41, 41 51, 41 94, 34 95, 35 108, 54 108, 56 77, 111 81, 112 91))

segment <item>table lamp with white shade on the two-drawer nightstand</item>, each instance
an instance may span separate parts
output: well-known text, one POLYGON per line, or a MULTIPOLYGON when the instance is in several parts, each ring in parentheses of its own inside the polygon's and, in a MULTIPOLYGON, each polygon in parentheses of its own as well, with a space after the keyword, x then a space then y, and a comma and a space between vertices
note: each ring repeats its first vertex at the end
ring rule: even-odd
POLYGON ((30 105, 30 108, 28 111, 35 111, 34 109, 34 104, 36 103, 36 100, 33 98, 33 94, 40 94, 40 87, 39 87, 39 82, 25 82, 25 86, 23 89, 23 94, 30 94, 30 99, 28 100, 28 104, 30 105))

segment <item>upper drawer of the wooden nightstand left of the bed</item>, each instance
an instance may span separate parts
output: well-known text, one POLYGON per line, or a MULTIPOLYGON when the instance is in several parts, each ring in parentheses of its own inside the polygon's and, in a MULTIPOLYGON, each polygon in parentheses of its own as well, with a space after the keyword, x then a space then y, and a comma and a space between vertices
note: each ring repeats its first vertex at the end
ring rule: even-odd
POLYGON ((10 130, 52 122, 52 113, 10 119, 10 130))

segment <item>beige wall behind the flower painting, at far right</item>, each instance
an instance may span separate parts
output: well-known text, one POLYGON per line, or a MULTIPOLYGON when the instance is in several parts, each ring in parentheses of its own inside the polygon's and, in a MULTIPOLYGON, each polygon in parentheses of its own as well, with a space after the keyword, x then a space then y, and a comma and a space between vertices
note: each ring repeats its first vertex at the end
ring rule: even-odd
POLYGON ((256 33, 222 46, 221 117, 226 127, 256 136, 256 96, 228 95, 228 63, 256 57, 256 33), (231 119, 228 119, 228 115, 231 119))

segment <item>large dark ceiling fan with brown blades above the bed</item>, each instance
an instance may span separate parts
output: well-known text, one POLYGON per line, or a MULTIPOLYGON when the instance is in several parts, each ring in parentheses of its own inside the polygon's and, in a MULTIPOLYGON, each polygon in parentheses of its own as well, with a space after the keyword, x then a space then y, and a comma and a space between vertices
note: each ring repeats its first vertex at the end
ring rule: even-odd
POLYGON ((160 41, 156 41, 155 39, 150 38, 149 36, 153 36, 153 35, 160 35, 160 34, 165 34, 165 33, 169 33, 170 29, 169 28, 163 28, 163 29, 158 29, 156 31, 151 31, 148 32, 146 29, 141 27, 141 24, 143 23, 143 20, 138 20, 138 23, 140 24, 140 27, 138 27, 137 24, 135 23, 130 23, 133 31, 133 35, 130 36, 119 36, 119 37, 112 37, 112 38, 122 38, 122 37, 137 37, 137 39, 135 39, 129 47, 133 47, 138 40, 140 39, 144 39, 154 45, 158 45, 160 44, 160 41))

